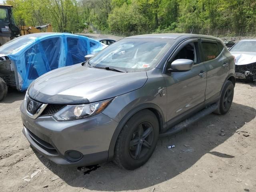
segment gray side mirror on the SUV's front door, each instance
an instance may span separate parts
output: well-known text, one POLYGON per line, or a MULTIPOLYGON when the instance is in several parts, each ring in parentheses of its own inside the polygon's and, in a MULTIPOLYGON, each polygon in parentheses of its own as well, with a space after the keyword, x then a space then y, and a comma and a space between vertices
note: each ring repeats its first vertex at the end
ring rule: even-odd
POLYGON ((170 72, 189 71, 192 69, 193 65, 194 65, 194 61, 190 59, 177 59, 172 62, 171 68, 168 69, 168 71, 170 72))

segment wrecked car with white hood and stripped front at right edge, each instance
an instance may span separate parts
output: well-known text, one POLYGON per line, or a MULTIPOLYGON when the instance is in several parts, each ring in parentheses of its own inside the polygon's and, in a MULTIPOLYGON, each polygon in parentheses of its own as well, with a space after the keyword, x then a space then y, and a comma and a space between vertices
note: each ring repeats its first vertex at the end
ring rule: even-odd
POLYGON ((242 40, 230 49, 236 58, 237 79, 256 81, 256 40, 242 40))

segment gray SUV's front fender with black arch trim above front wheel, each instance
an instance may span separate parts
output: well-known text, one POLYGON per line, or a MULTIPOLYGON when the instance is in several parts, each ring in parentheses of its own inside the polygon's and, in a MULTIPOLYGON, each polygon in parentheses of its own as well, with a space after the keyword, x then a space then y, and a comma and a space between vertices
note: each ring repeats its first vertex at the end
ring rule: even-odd
POLYGON ((166 125, 167 94, 163 94, 166 93, 166 84, 162 70, 155 68, 147 74, 150 78, 142 88, 117 96, 102 112, 118 122, 110 142, 108 160, 112 160, 114 156, 114 148, 120 131, 136 112, 146 108, 152 110, 160 120, 160 132, 163 125, 166 125))

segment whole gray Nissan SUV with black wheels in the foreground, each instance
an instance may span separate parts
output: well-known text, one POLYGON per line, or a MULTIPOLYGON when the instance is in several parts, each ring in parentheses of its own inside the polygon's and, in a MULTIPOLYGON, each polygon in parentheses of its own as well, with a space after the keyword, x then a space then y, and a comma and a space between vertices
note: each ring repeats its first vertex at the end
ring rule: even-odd
POLYGON ((84 63, 36 79, 20 106, 23 133, 56 164, 147 162, 160 136, 228 112, 234 57, 196 34, 124 38, 84 63))

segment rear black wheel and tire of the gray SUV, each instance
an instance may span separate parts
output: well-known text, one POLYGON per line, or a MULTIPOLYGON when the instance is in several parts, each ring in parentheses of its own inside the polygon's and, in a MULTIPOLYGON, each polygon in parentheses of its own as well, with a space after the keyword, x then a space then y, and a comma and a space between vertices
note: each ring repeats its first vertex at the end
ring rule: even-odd
POLYGON ((224 115, 228 112, 232 105, 234 97, 234 85, 231 81, 227 81, 222 89, 218 108, 214 111, 215 114, 224 115))

